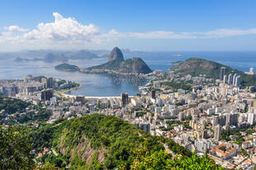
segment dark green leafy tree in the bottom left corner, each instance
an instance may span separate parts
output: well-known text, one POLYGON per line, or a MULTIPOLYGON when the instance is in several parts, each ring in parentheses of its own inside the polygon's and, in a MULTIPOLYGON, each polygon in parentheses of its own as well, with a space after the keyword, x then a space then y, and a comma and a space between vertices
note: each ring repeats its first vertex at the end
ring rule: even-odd
POLYGON ((31 169, 35 166, 26 129, 0 125, 0 169, 31 169))

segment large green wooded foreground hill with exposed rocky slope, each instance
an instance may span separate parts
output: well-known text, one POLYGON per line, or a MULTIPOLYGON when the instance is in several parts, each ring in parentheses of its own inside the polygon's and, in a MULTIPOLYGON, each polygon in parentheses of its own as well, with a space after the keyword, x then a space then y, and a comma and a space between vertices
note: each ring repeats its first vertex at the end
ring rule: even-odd
POLYGON ((58 154, 45 154, 40 161, 55 163, 62 168, 155 169, 149 158, 153 158, 158 169, 217 168, 211 158, 199 158, 172 139, 149 135, 114 116, 94 114, 58 120, 52 125, 31 130, 30 137, 33 139, 32 147, 37 151, 47 147, 58 154), (172 159, 172 154, 164 151, 166 148, 183 156, 172 159), (197 159, 194 165, 189 164, 191 156, 197 159))

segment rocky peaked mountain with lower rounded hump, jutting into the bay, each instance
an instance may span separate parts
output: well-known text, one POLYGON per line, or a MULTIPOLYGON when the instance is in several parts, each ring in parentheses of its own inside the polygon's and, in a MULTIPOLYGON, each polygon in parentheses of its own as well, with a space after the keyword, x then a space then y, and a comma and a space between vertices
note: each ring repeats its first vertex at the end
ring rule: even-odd
POLYGON ((126 59, 120 49, 115 47, 109 55, 108 62, 88 69, 111 69, 119 73, 151 73, 152 70, 140 58, 126 59))

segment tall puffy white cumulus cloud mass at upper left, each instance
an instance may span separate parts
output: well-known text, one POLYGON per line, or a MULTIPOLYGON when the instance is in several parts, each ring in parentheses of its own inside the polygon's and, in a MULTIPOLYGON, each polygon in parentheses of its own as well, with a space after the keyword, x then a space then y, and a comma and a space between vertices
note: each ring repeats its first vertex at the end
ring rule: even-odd
POLYGON ((37 29, 19 36, 19 40, 92 41, 99 34, 99 29, 93 24, 80 24, 73 17, 64 18, 58 12, 53 15, 54 22, 38 24, 37 29))

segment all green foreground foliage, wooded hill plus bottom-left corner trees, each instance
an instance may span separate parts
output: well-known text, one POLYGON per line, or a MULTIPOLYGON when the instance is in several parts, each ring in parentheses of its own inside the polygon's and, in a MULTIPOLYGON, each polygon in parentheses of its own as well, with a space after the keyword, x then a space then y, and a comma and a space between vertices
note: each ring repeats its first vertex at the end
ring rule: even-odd
POLYGON ((37 130, 31 130, 28 136, 24 127, 1 126, 0 169, 222 169, 207 156, 197 157, 171 139, 149 135, 113 116, 95 114, 58 120, 37 130), (42 165, 36 167, 34 155, 30 153, 30 142, 37 149, 48 146, 56 151, 65 149, 66 152, 59 152, 58 156, 44 154, 44 160, 40 159, 42 165), (78 149, 81 144, 90 150, 78 149), (163 144, 176 154, 175 158, 174 154, 164 151, 163 144), (83 158, 82 155, 88 151, 94 153, 87 163, 88 157, 83 158), (101 152, 104 152, 103 162, 98 161, 101 152))

